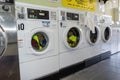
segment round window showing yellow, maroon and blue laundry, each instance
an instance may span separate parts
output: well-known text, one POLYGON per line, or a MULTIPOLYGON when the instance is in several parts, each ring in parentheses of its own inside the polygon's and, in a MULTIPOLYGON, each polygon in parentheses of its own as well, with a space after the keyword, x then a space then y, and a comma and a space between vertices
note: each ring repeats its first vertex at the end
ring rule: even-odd
POLYGON ((48 46, 48 36, 44 32, 37 32, 32 36, 31 45, 37 52, 44 51, 48 46))

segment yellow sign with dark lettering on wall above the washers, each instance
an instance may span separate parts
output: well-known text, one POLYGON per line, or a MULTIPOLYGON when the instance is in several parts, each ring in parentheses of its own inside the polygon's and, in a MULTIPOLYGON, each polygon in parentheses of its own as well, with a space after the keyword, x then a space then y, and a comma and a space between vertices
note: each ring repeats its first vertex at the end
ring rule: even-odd
POLYGON ((69 8, 95 11, 97 0, 62 0, 62 5, 69 8))

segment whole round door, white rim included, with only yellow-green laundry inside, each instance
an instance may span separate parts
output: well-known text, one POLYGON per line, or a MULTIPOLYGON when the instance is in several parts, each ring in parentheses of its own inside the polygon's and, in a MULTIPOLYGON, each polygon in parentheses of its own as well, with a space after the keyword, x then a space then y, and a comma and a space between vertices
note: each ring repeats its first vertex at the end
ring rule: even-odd
POLYGON ((67 29, 63 38, 67 48, 76 49, 82 42, 82 30, 78 27, 71 27, 67 29))

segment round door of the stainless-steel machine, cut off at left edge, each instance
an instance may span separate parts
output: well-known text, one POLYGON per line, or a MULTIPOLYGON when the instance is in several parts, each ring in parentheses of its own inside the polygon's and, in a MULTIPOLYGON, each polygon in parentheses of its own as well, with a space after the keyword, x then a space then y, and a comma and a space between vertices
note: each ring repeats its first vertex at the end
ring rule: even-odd
POLYGON ((4 55, 7 49, 7 37, 4 29, 0 26, 0 58, 4 55))

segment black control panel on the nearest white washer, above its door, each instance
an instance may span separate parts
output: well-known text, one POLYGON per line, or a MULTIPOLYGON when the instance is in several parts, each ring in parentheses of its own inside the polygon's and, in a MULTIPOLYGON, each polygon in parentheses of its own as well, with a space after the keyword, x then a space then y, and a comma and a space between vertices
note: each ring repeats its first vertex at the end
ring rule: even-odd
POLYGON ((37 10, 37 9, 27 9, 28 18, 30 19, 46 19, 49 20, 49 11, 37 10))

